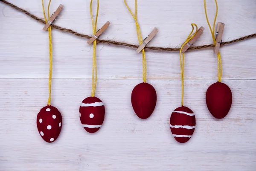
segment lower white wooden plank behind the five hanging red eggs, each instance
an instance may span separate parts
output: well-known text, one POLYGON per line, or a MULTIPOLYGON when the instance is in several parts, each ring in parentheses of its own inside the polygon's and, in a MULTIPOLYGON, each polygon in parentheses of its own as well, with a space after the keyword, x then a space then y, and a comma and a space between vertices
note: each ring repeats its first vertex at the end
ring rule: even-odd
POLYGON ((233 106, 223 120, 213 119, 205 105, 205 91, 215 80, 185 80, 184 104, 194 111, 197 125, 192 139, 183 145, 175 142, 169 128, 172 110, 180 106, 180 80, 148 80, 158 97, 154 113, 144 121, 134 114, 130 101, 140 82, 98 80, 96 96, 104 102, 106 116, 101 130, 92 135, 79 120, 79 105, 90 96, 91 81, 54 79, 52 105, 61 111, 63 129, 49 145, 35 124, 38 111, 47 104, 48 80, 0 79, 0 170, 255 168, 255 80, 223 80, 233 91, 233 106))

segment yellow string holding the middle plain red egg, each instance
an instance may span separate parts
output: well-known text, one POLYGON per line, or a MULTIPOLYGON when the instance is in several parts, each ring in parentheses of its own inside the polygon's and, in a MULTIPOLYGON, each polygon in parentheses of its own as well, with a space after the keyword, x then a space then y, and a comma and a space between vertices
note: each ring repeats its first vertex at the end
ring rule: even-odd
MULTIPOLYGON (((127 9, 129 10, 129 12, 131 13, 132 17, 135 20, 136 23, 136 31, 137 31, 137 37, 139 40, 140 45, 143 43, 142 40, 142 36, 141 36, 141 32, 140 32, 140 26, 139 23, 137 22, 137 0, 135 0, 135 16, 134 14, 131 12, 131 9, 129 8, 129 6, 127 5, 126 1, 124 0, 125 5, 127 6, 127 9)), ((145 57, 145 50, 142 49, 142 63, 143 63, 143 82, 146 82, 146 76, 147 76, 147 61, 146 61, 146 57, 145 57)))

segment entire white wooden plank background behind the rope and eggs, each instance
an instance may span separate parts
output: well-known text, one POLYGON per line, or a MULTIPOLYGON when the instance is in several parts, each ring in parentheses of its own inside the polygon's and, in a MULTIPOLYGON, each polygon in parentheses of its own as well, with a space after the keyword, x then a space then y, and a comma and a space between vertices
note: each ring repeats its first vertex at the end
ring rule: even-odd
MULTIPOLYGON (((9 0, 43 18, 41 0, 9 0)), ((45 4, 48 2, 45 1, 45 4)), ((53 0, 64 10, 55 24, 92 34, 90 0, 53 0)), ((134 11, 134 0, 128 0, 134 11)), ((255 0, 218 0, 223 41, 255 32, 255 0)), ((46 5, 47 6, 47 5, 46 5)), ((93 2, 95 14, 96 0, 93 2)), ((213 22, 214 0, 207 0, 213 22)), ((101 39, 138 44, 136 28, 123 0, 100 0, 98 28, 111 21, 101 39)), ((159 29, 150 46, 180 46, 190 23, 204 26, 196 45, 212 43, 203 0, 138 0, 143 37, 159 29)), ((196 129, 186 144, 172 137, 169 118, 180 106, 177 52, 146 52, 148 83, 157 91, 157 106, 147 120, 131 106, 131 91, 142 82, 142 56, 135 49, 99 44, 96 96, 106 107, 105 122, 95 134, 79 120, 79 105, 90 96, 92 46, 52 30, 52 105, 61 111, 63 128, 52 144, 41 139, 36 116, 47 104, 49 49, 43 25, 0 3, 0 171, 255 171, 256 39, 221 48, 223 83, 233 105, 227 117, 214 119, 205 92, 217 81, 212 49, 186 53, 184 104, 195 112, 196 129)))

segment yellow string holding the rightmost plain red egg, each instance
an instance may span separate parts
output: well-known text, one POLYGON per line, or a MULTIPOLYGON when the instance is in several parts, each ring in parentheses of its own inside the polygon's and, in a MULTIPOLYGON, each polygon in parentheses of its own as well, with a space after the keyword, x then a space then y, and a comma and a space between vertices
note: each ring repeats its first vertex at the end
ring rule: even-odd
MULTIPOLYGON (((214 28, 215 28, 215 23, 216 23, 216 19, 217 19, 217 15, 218 15, 218 3, 217 0, 215 0, 215 4, 216 4, 216 13, 215 13, 215 18, 214 18, 214 22, 213 22, 213 26, 211 27, 209 20, 208 20, 208 16, 207 16, 207 10, 206 10, 206 1, 204 0, 204 12, 205 12, 205 17, 212 35, 212 40, 214 45, 216 45, 216 41, 215 41, 215 34, 214 34, 214 28)), ((220 51, 217 54, 218 57, 218 81, 221 82, 221 76, 222 76, 222 63, 221 63, 221 54, 220 51)))

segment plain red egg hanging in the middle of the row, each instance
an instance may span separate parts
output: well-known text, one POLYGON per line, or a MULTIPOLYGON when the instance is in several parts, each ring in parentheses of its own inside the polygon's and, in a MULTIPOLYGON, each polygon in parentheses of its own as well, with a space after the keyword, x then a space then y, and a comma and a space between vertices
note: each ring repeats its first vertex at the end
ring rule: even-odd
POLYGON ((157 93, 151 84, 140 83, 131 93, 131 104, 134 112, 141 119, 147 119, 157 104, 157 93))

